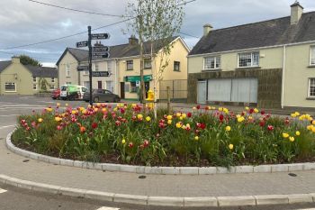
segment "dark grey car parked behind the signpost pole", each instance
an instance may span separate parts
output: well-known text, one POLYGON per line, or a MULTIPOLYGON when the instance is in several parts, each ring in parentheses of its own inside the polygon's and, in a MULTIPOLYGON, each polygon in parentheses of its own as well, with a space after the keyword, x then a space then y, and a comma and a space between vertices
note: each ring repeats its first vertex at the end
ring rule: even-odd
MULTIPOLYGON (((83 95, 83 100, 85 102, 90 101, 90 92, 87 90, 85 94, 83 95)), ((93 89, 92 92, 92 101, 97 103, 97 102, 120 102, 121 97, 113 94, 109 90, 105 89, 93 89)))

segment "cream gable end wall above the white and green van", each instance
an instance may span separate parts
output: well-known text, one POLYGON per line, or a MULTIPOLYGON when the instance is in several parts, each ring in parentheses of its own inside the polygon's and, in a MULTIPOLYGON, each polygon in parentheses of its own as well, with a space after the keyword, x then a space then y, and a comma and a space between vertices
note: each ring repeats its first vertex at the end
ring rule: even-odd
POLYGON ((79 84, 79 77, 77 71, 78 62, 68 51, 66 55, 60 60, 58 65, 58 86, 61 87, 67 82, 71 82, 72 85, 79 84), (70 77, 66 77, 66 67, 67 64, 70 65, 70 77))

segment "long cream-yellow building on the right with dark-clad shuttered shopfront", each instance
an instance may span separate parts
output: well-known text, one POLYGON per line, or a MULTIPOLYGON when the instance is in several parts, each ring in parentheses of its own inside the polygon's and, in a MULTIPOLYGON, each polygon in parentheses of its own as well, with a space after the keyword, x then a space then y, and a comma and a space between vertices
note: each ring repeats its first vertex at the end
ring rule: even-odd
POLYGON ((212 30, 188 56, 188 101, 315 108, 315 12, 212 30))

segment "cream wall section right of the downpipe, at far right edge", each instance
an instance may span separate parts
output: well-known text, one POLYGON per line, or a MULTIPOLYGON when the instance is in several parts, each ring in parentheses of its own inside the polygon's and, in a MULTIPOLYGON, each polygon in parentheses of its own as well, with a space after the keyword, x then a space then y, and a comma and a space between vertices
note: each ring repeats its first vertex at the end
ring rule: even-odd
POLYGON ((308 99, 309 78, 315 78, 315 68, 309 67, 314 44, 286 48, 284 106, 315 108, 315 101, 308 99))

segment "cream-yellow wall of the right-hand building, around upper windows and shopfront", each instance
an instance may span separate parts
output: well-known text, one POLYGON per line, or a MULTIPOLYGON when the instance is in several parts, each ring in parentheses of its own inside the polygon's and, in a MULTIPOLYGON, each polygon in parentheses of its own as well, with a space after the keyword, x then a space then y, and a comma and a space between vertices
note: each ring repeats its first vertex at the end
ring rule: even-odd
MULTIPOLYGON (((315 108, 314 100, 308 98, 309 78, 315 78, 315 68, 309 67, 311 45, 314 44, 315 41, 314 43, 286 46, 284 70, 284 108, 315 108)), ((282 46, 249 51, 259 51, 259 67, 261 69, 284 67, 284 47, 282 46)), ((221 72, 240 70, 238 68, 238 53, 239 51, 220 54, 221 72)), ((189 57, 188 72, 210 72, 203 71, 204 57, 207 56, 203 55, 198 57, 189 57)), ((248 69, 248 71, 251 70, 253 69, 248 69)), ((279 84, 282 83, 281 79, 275 80, 275 82, 279 84)), ((193 92, 195 91, 193 90, 193 92)), ((195 100, 192 98, 189 98, 189 100, 195 102, 195 100)))

